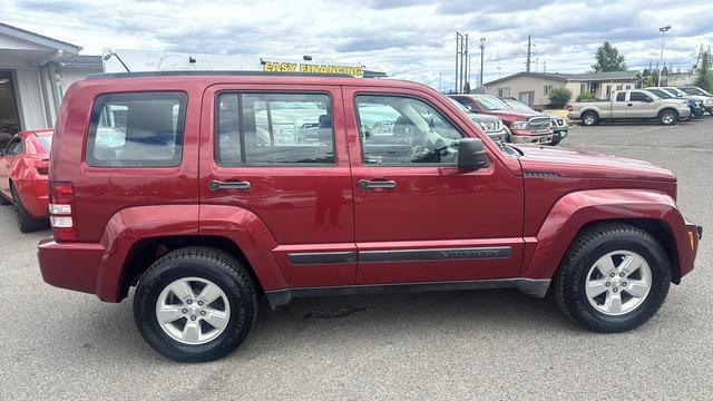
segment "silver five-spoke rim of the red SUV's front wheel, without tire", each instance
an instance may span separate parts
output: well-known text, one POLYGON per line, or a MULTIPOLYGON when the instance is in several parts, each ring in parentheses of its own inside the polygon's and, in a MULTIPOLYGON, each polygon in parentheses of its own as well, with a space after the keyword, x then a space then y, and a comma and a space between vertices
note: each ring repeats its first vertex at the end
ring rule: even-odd
POLYGON ((614 251, 599 257, 587 273, 585 292, 598 312, 618 316, 638 309, 652 287, 651 266, 632 251, 614 251))

